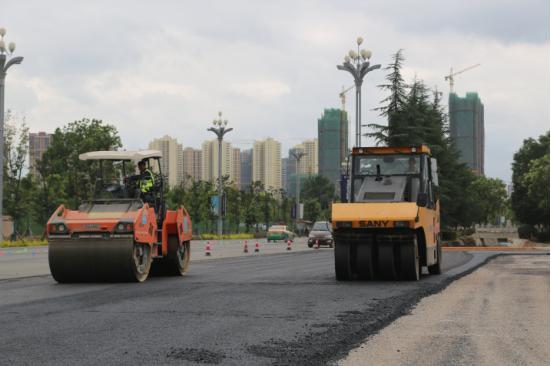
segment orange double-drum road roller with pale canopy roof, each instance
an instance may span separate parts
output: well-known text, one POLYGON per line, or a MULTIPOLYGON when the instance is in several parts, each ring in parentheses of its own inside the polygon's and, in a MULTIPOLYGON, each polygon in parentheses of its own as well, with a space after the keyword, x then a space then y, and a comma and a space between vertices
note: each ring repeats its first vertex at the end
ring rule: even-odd
MULTIPOLYGON (((190 259, 191 220, 166 210, 161 152, 93 151, 79 156, 98 177, 94 199, 77 210, 61 205, 48 220, 48 261, 57 282, 142 282, 149 273, 181 276, 190 259), (136 164, 150 186, 140 187, 136 164), (143 174, 143 173, 142 173, 143 174)), ((92 179, 90 179, 92 181, 92 179)))

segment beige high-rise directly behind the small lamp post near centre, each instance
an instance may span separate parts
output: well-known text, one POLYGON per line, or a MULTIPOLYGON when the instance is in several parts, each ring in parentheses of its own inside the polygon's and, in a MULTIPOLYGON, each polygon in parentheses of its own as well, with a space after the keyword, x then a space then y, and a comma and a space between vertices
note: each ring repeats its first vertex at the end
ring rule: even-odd
MULTIPOLYGON (((202 180, 216 182, 218 179, 218 140, 205 141, 202 144, 203 166, 202 180)), ((234 153, 231 143, 222 141, 222 176, 229 176, 230 181, 239 182, 237 170, 233 169, 234 153)))

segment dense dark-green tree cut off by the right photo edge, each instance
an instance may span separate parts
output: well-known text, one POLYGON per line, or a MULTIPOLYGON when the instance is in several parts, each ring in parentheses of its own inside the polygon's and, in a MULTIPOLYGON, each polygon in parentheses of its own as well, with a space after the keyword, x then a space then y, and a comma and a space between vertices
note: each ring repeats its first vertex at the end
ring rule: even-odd
POLYGON ((549 131, 524 140, 513 157, 511 207, 516 219, 549 240, 549 131))

